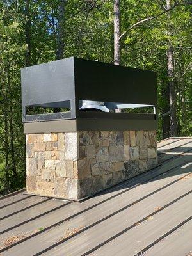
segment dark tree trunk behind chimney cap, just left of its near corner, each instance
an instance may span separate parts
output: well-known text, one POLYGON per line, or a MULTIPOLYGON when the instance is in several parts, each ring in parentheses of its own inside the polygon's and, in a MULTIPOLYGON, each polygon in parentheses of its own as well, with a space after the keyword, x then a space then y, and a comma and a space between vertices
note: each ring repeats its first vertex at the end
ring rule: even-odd
POLYGON ((66 0, 60 0, 59 4, 59 19, 58 19, 58 33, 56 36, 56 60, 60 60, 64 56, 64 23, 65 23, 65 5, 66 0))

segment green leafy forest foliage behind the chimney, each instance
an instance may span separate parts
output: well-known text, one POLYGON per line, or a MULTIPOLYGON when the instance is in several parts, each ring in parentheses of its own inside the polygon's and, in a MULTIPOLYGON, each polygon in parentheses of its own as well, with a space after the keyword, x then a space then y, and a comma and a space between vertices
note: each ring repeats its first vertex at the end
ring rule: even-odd
MULTIPOLYGON (((176 2, 171 3, 173 6, 176 2)), ((127 31, 120 38, 121 65, 157 72, 159 140, 170 136, 169 114, 164 116, 170 110, 167 70, 170 45, 174 57, 177 135, 192 134, 192 8, 190 4, 179 5, 170 10, 170 15, 166 12, 159 15, 165 10, 166 0, 121 0, 121 31, 127 31), (154 19, 132 27, 148 17, 154 19)), ((64 57, 113 63, 113 37, 112 0, 1 0, 0 195, 22 188, 25 182, 20 68, 26 63, 36 65, 55 60, 58 38, 63 41, 64 57), (65 2, 63 17, 61 1, 65 2)))

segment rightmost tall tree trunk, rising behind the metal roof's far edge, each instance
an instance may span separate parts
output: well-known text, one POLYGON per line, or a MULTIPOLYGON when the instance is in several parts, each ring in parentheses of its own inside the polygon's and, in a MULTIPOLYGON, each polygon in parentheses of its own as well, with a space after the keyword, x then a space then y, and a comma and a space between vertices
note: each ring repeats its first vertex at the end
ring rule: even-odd
MULTIPOLYGON (((170 0, 166 0, 166 8, 170 9, 170 0)), ((170 19, 170 12, 167 13, 168 19, 170 19)), ((170 27, 170 32, 172 28, 170 27)), ((167 51, 168 60, 168 83, 170 88, 170 136, 177 136, 177 116, 176 116, 176 95, 175 95, 175 80, 174 80, 174 58, 173 58, 173 46, 171 42, 168 42, 167 51)))

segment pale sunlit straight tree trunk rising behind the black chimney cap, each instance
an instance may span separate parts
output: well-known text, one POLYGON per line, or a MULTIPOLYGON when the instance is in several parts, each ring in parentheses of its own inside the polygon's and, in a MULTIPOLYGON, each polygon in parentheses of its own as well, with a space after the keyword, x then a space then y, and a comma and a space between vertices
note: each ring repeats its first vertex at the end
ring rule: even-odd
POLYGON ((114 0, 114 64, 120 65, 120 0, 114 0))

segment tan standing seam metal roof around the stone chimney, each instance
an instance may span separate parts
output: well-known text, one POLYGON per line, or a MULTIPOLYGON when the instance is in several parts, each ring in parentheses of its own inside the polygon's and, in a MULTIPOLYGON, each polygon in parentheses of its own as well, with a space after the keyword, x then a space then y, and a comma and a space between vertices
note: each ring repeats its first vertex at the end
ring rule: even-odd
POLYGON ((0 198, 1 255, 188 255, 192 138, 159 141, 160 165, 83 202, 0 198))

